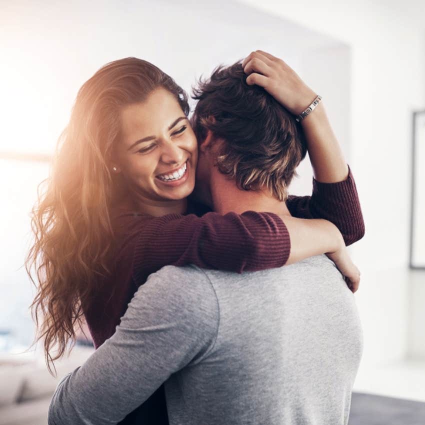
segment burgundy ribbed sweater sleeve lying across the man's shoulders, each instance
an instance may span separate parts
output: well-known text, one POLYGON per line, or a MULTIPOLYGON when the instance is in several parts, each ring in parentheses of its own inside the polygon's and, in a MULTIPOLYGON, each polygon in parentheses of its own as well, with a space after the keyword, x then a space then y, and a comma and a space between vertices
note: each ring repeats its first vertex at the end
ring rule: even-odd
POLYGON ((282 266, 289 252, 288 230, 273 213, 167 214, 144 221, 137 232, 133 276, 144 281, 167 264, 239 273, 262 270, 282 266))

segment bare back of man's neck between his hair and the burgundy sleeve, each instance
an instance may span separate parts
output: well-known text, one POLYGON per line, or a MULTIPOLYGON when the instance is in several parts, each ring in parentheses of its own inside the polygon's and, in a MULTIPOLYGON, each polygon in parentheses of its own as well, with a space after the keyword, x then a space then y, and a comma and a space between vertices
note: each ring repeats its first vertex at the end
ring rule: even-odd
POLYGON ((279 201, 267 190, 241 190, 234 180, 221 174, 216 167, 211 172, 212 207, 215 212, 225 214, 233 211, 266 211, 290 216, 286 203, 279 201))

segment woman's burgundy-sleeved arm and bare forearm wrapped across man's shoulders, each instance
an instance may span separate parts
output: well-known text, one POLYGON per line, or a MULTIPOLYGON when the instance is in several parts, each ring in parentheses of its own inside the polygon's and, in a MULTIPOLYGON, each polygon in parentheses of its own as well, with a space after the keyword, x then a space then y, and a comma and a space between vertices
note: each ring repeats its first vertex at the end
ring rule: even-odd
MULTIPOLYGON (((268 212, 133 216, 134 277, 144 281, 164 265, 254 271, 290 264, 340 248, 342 237, 323 219, 268 212)), ((343 244, 343 243, 342 243, 343 244)))

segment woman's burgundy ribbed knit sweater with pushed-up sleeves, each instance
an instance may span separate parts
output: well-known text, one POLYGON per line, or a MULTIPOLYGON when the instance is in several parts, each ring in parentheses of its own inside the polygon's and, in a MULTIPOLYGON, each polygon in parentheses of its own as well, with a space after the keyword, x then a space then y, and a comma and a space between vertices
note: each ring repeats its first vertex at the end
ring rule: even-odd
MULTIPOLYGON (((299 218, 325 218, 341 231, 348 245, 364 234, 354 179, 320 183, 313 179, 311 196, 289 196, 289 212, 299 218)), ((112 211, 116 255, 109 278, 99 282, 84 311, 95 347, 119 324, 127 304, 150 273, 164 265, 196 264, 236 272, 285 264, 289 234, 273 213, 247 211, 220 215, 189 204, 188 214, 152 217, 132 211, 112 211)), ((124 390, 124 388, 123 388, 124 390)), ((167 423, 163 388, 121 423, 167 423)))

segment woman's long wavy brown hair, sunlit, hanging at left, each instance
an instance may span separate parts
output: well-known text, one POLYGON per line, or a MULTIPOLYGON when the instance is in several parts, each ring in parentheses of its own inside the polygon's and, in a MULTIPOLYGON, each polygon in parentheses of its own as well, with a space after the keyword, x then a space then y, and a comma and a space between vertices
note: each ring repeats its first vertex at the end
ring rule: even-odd
POLYGON ((135 57, 101 67, 79 89, 68 125, 60 135, 50 175, 38 187, 31 213, 34 241, 25 260, 36 287, 30 305, 34 343, 44 341, 47 367, 70 350, 75 328, 96 284, 109 273, 114 232, 110 207, 125 196, 111 174, 120 136, 120 109, 163 87, 187 115, 187 95, 151 63, 135 57))

